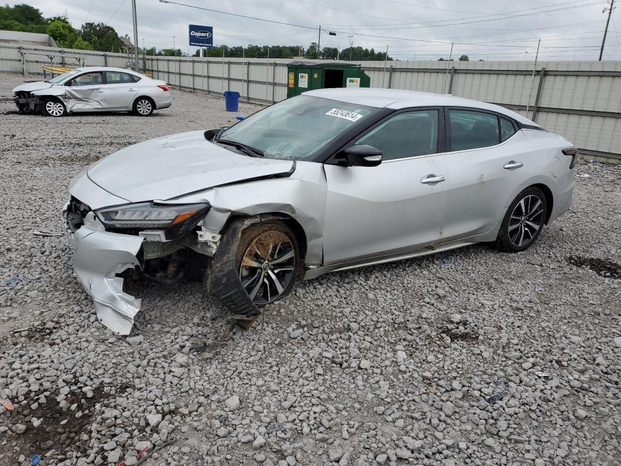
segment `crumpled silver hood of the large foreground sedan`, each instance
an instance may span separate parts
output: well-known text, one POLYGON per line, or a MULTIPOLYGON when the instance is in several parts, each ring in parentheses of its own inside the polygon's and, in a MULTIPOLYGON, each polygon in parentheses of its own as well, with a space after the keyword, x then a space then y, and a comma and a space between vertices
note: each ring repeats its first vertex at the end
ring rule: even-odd
POLYGON ((291 160, 249 157, 193 131, 130 145, 88 168, 88 177, 129 202, 166 200, 194 191, 292 172, 291 160))

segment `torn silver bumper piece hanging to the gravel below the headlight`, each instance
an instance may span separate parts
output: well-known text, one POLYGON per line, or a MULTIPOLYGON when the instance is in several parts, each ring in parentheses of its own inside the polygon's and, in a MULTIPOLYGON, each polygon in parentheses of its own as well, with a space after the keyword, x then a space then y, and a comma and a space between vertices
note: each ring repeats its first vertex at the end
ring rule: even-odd
POLYGON ((114 334, 128 335, 141 300, 123 292, 123 278, 117 275, 140 267, 137 255, 144 238, 88 226, 68 233, 68 237, 75 247, 74 275, 93 298, 97 319, 114 334))

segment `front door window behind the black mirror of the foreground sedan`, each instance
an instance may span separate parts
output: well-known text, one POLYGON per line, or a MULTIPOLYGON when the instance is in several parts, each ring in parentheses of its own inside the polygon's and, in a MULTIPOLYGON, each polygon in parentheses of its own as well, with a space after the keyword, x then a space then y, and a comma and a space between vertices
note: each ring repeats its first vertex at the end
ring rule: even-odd
POLYGON ((400 113, 371 130, 355 144, 368 144, 382 151, 383 160, 415 157, 438 152, 438 111, 400 113))

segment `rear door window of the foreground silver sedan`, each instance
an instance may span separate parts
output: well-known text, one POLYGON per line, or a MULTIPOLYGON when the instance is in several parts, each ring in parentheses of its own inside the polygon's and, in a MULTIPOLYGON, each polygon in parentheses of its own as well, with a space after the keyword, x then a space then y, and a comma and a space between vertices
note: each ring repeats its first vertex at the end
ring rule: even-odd
POLYGON ((471 110, 449 110, 451 150, 488 147, 500 142, 498 117, 471 110))

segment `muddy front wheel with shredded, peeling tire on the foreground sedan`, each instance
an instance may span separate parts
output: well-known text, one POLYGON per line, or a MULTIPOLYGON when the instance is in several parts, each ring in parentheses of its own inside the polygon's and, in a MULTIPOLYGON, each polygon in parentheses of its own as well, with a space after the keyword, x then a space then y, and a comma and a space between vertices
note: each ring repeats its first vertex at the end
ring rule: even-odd
POLYGON ((222 236, 207 271, 207 291, 229 309, 230 317, 252 319, 258 308, 287 295, 299 273, 299 246, 280 221, 234 222, 222 236))

